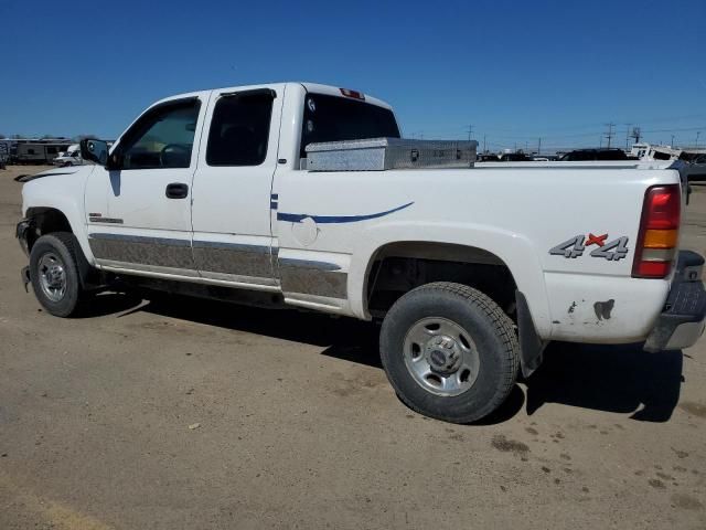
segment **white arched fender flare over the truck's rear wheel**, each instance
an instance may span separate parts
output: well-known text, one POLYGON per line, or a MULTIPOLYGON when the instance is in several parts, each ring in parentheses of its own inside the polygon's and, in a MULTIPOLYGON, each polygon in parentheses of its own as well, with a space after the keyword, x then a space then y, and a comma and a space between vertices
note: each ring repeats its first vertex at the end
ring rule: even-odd
POLYGON ((525 295, 538 335, 549 337, 549 303, 542 263, 534 245, 523 234, 475 223, 398 221, 365 230, 357 239, 349 271, 351 309, 360 318, 371 318, 365 286, 378 251, 385 245, 405 242, 464 245, 494 254, 507 266, 517 289, 525 295))

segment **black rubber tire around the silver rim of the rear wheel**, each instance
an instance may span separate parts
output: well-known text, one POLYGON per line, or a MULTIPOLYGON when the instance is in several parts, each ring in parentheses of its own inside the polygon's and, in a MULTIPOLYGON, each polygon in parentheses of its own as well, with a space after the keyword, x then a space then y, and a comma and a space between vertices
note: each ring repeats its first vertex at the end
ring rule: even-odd
MULTIPOLYGON (((383 367, 397 395, 414 411, 437 420, 451 423, 481 420, 505 401, 517 378, 520 344, 512 320, 492 299, 466 285, 439 282, 405 294, 385 316, 379 343, 383 367), (405 352, 407 333, 419 329, 420 322, 434 318, 462 328, 468 337, 459 337, 459 347, 461 342, 469 347, 469 342, 472 346, 468 351, 475 351, 477 375, 473 381, 461 383, 470 384, 470 388, 459 390, 461 393, 458 395, 434 393, 422 386, 420 377, 413 375, 413 370, 407 368, 411 361, 406 361, 405 356, 409 356, 408 359, 415 354, 417 359, 424 356, 414 343, 415 352, 405 352)), ((434 370, 436 367, 432 364, 437 361, 432 359, 432 350, 437 347, 429 348, 424 351, 431 352, 426 359, 434 370)), ((434 380, 436 373, 432 372, 429 379, 434 380)))

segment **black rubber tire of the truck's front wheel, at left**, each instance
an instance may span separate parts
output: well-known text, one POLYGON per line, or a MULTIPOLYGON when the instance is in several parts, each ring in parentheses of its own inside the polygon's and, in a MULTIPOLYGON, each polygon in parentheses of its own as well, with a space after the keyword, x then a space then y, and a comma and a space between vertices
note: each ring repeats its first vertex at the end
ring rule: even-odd
POLYGON ((30 279, 34 296, 47 312, 56 317, 73 317, 81 312, 88 294, 84 292, 78 275, 77 253, 82 252, 76 237, 71 232, 54 232, 41 236, 32 246, 30 253, 30 279), (55 294, 52 298, 42 287, 42 276, 46 274, 40 271, 46 268, 46 261, 55 259, 63 269, 65 289, 63 295, 55 294), (42 265, 41 265, 42 264, 42 265))

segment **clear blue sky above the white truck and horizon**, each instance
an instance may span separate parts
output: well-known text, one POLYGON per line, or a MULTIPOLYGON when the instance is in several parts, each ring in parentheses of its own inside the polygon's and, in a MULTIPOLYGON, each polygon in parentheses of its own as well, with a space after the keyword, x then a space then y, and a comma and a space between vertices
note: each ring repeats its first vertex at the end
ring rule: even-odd
POLYGON ((391 103, 405 136, 706 144, 706 1, 0 0, 0 132, 116 137, 154 99, 312 81, 391 103))

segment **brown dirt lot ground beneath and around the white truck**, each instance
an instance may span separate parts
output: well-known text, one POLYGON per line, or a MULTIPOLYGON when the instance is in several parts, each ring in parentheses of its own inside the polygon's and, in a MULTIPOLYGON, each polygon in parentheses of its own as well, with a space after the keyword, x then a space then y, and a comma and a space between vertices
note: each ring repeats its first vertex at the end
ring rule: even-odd
MULTIPOLYGON (((119 295, 49 316, 13 239, 33 171, 0 171, 0 529, 706 528, 706 339, 553 344, 449 425, 396 399, 372 325, 119 295)), ((697 192, 685 246, 705 227, 697 192)))

